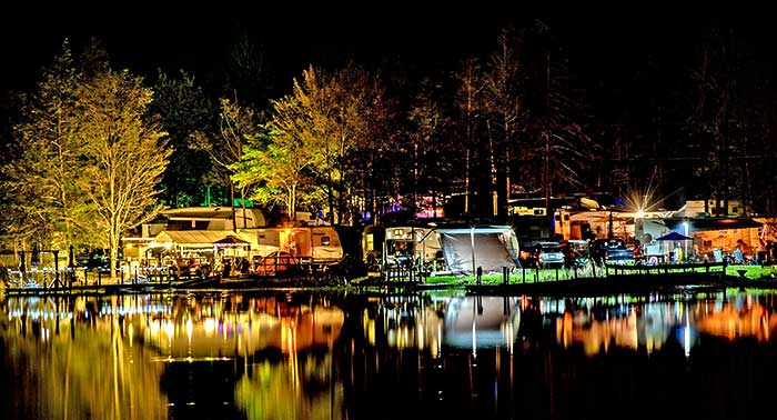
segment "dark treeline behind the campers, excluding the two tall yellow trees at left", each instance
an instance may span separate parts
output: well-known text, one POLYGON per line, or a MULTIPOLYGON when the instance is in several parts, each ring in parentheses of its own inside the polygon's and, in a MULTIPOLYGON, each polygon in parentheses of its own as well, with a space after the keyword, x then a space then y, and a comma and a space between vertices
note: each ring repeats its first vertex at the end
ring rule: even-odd
MULTIPOLYGON (((171 150, 165 206, 252 199, 336 223, 398 209, 504 218, 511 197, 628 200, 653 186, 656 207, 738 199, 777 212, 760 23, 416 19, 65 32, 74 56, 97 40, 153 91, 171 150)), ((40 66, 62 41, 40 41, 40 66)), ((24 66, 6 70, 17 82, 0 96, 4 166, 31 152, 19 128, 41 73, 24 66)))

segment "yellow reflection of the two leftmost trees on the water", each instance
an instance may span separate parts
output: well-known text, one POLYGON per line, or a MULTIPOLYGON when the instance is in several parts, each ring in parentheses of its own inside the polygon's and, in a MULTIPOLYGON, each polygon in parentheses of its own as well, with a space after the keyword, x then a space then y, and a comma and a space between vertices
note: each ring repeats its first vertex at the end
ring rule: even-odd
POLYGON ((2 363, 14 382, 7 397, 13 399, 12 414, 52 419, 167 417, 167 399, 159 389, 162 366, 152 362, 148 350, 125 346, 118 316, 103 317, 105 328, 98 329, 60 318, 64 317, 57 311, 52 318, 24 314, 2 319, 2 363), (23 330, 33 333, 24 336, 23 330))

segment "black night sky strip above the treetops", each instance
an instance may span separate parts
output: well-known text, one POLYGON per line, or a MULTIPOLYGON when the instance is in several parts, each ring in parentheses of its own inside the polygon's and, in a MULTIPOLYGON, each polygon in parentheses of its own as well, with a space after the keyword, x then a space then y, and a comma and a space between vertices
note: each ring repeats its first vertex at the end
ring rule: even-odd
MULTIPOLYGON (((444 13, 420 12, 400 6, 384 6, 383 10, 380 3, 371 4, 362 13, 319 12, 305 10, 305 6, 300 6, 303 10, 296 12, 246 7, 223 13, 192 8, 148 13, 120 9, 89 13, 62 10, 43 17, 4 13, 0 18, 0 51, 4 56, 0 91, 29 88, 64 37, 73 46, 90 36, 99 37, 114 67, 129 68, 138 74, 153 76, 157 68, 169 72, 185 69, 199 80, 208 80, 222 71, 228 46, 248 32, 263 46, 276 73, 275 82, 290 86, 291 78, 307 63, 333 64, 344 57, 367 64, 398 60, 420 69, 453 70, 467 54, 486 54, 505 24, 519 27, 532 21, 532 18, 515 18, 523 13, 511 10, 472 11, 451 7, 444 13)), ((655 19, 639 13, 543 20, 566 49, 573 71, 587 89, 616 91, 628 90, 639 78, 670 77, 667 74, 672 72, 656 72, 656 68, 687 66, 695 43, 715 23, 687 18, 655 19)), ((776 32, 766 19, 728 23, 747 38, 748 44, 763 47, 758 59, 770 63, 776 32)))

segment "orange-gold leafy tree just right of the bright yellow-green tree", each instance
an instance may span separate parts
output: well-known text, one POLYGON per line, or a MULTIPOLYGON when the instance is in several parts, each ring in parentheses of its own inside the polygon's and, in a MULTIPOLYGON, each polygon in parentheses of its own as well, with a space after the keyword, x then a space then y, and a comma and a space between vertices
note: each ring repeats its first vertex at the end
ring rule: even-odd
POLYGON ((311 150, 314 181, 322 186, 330 221, 352 220, 360 173, 359 154, 381 137, 386 120, 384 92, 376 78, 354 66, 335 72, 303 71, 294 80, 291 107, 275 109, 273 124, 311 150), (335 218, 336 216, 336 218, 335 218))

